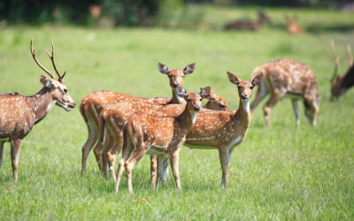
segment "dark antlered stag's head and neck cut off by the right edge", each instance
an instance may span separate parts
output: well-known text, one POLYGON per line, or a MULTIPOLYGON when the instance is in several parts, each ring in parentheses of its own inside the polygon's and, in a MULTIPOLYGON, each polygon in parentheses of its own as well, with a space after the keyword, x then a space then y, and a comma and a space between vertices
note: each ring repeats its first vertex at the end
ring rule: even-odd
POLYGON ((340 57, 335 52, 335 42, 331 41, 331 48, 335 58, 335 71, 330 80, 331 84, 331 101, 338 100, 349 88, 354 85, 354 65, 353 56, 351 54, 350 44, 347 45, 348 51, 348 71, 342 76, 338 75, 338 65, 340 57))

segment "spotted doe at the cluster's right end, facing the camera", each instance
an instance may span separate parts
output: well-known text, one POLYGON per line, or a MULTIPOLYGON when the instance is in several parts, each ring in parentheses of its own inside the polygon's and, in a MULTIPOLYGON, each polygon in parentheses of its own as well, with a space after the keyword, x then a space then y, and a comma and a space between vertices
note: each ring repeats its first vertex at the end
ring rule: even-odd
MULTIPOLYGON (((219 150, 222 170, 221 188, 228 188, 227 172, 231 156, 235 147, 242 143, 248 132, 251 121, 252 89, 260 84, 263 73, 259 72, 252 80, 241 80, 235 74, 227 72, 227 78, 237 86, 240 98, 239 108, 237 110, 200 110, 184 143, 189 149, 219 150)), ((166 162, 168 160, 168 158, 165 159, 166 162)), ((158 182, 165 178, 168 165, 166 162, 158 161, 157 170, 163 172, 158 172, 157 187, 158 182)))

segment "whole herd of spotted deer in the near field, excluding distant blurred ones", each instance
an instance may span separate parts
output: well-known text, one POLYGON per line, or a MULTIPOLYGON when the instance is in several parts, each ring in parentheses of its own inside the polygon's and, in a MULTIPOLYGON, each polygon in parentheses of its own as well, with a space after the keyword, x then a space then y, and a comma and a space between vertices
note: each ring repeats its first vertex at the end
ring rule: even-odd
MULTIPOLYGON (((349 70, 338 76, 339 57, 335 43, 331 42, 335 57, 335 72, 331 82, 331 100, 338 99, 354 84, 353 57, 350 46, 349 70)), ((41 75, 42 89, 35 95, 7 93, 0 95, 0 168, 3 165, 4 142, 11 143, 12 172, 18 180, 19 149, 22 140, 33 126, 44 118, 54 104, 70 111, 75 103, 65 86, 65 72, 58 72, 54 61, 54 44, 50 57, 56 76, 46 69, 35 56, 33 41, 30 50, 35 63, 48 76, 41 75)), ((189 149, 217 149, 221 165, 221 187, 227 188, 227 171, 235 146, 242 143, 248 132, 251 113, 269 95, 263 107, 266 125, 271 125, 270 111, 284 96, 291 98, 300 124, 298 100, 304 103, 304 114, 315 126, 319 114, 318 84, 312 69, 289 58, 274 59, 259 65, 251 80, 241 80, 227 72, 228 80, 238 92, 239 106, 229 110, 225 99, 212 92, 210 87, 200 92, 187 93, 183 79, 195 72, 196 64, 183 69, 170 69, 158 63, 158 71, 166 75, 172 89, 172 97, 145 98, 118 92, 100 90, 81 99, 80 112, 89 136, 82 148, 81 173, 94 149, 96 163, 106 178, 115 180, 115 192, 126 170, 129 192, 133 192, 132 171, 142 156, 150 155, 150 186, 158 188, 167 177, 171 164, 173 177, 181 189, 179 152, 185 145, 189 149), (258 87, 253 103, 252 91, 258 87), (202 100, 208 101, 202 105, 202 100), (95 147, 95 148, 94 148, 95 147), (121 153, 117 173, 114 165, 121 153)))

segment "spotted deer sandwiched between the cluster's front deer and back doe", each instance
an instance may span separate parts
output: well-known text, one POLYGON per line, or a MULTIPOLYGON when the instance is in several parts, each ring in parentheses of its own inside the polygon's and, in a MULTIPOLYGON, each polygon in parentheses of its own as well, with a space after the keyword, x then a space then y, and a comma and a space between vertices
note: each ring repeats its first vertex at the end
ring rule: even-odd
MULTIPOLYGON (((201 88, 203 90, 203 88, 201 88)), ((204 88, 204 91, 210 91, 210 87, 204 88)), ((205 94, 206 98, 211 97, 211 93, 205 94)), ((215 95, 219 97, 218 95, 215 95)), ((215 97, 213 96, 213 97, 215 97)), ((216 101, 213 102, 215 107, 219 107, 216 101)), ((127 124, 127 118, 135 112, 146 112, 153 115, 161 116, 176 116, 181 114, 184 110, 184 104, 168 104, 159 105, 156 103, 146 103, 144 101, 126 100, 118 103, 112 103, 104 108, 99 116, 99 141, 96 144, 96 148, 99 153, 103 155, 104 160, 104 175, 107 174, 107 164, 111 173, 111 177, 115 180, 114 164, 117 156, 119 155, 123 147, 123 129, 127 124)), ((156 161, 153 161, 152 167, 156 166, 156 161)), ((154 170, 153 170, 154 171, 154 170)), ((154 187, 153 181, 156 173, 151 173, 151 186, 154 187)))

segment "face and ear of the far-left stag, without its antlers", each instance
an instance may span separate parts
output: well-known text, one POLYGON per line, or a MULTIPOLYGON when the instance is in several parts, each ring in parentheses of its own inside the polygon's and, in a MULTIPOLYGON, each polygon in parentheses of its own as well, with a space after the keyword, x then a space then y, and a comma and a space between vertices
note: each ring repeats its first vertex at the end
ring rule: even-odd
POLYGON ((58 106, 64 108, 66 111, 73 109, 75 103, 73 102, 73 98, 69 95, 64 80, 50 79, 42 75, 41 82, 45 88, 50 89, 52 99, 58 106))

